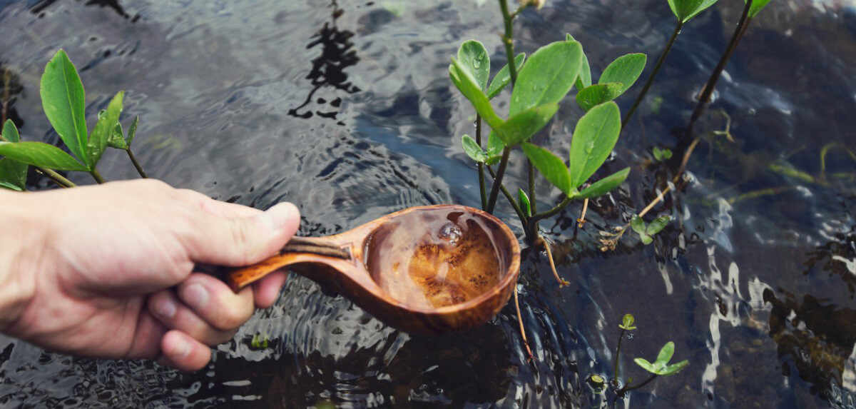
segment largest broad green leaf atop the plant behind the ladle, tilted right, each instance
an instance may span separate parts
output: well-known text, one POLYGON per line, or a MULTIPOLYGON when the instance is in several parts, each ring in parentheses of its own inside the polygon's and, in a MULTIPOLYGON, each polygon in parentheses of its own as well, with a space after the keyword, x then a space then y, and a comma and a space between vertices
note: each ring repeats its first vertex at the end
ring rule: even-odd
POLYGON ((575 41, 556 41, 535 51, 517 75, 508 116, 561 101, 580 75, 582 57, 575 41))

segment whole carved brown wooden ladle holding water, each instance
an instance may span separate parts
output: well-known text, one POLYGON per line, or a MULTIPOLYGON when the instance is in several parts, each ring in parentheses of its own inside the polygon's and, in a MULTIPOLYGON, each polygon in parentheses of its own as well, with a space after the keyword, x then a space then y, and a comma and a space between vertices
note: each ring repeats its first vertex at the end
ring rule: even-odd
POLYGON ((441 334, 496 316, 514 291, 520 246, 482 210, 419 206, 342 234, 294 237, 279 255, 229 271, 227 282, 237 291, 285 266, 390 326, 441 334))

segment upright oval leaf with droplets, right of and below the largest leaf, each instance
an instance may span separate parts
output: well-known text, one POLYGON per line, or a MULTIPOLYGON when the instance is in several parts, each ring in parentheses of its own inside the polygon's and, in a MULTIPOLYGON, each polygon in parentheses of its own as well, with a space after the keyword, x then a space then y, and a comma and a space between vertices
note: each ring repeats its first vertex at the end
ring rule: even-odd
POLYGON ((621 113, 614 102, 600 104, 580 118, 571 139, 571 184, 579 187, 600 168, 621 133, 621 113))

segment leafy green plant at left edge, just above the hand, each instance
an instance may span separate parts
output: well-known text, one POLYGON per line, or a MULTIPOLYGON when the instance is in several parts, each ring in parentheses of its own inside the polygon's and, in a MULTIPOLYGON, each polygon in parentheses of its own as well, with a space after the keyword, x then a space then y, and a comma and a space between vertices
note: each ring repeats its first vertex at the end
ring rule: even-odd
POLYGON ((124 92, 117 92, 107 109, 98 112, 98 122, 92 132, 88 132, 83 83, 65 51, 58 50, 45 66, 39 94, 45 116, 71 154, 43 142, 21 141, 15 124, 6 120, 3 133, 0 133, 0 155, 3 155, 0 159, 0 187, 16 191, 26 189, 28 165, 33 165, 61 187, 75 185, 56 170, 87 172, 98 183, 104 183, 97 166, 107 147, 126 151, 140 176, 147 177, 131 151, 140 117, 134 118, 127 135, 119 122, 124 92))

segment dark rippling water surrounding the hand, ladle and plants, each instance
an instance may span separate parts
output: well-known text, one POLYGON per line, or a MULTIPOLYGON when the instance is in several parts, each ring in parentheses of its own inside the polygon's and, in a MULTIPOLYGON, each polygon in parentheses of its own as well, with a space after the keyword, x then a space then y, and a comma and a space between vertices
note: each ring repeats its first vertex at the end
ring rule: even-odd
MULTIPOLYGON (((531 364, 513 306, 461 335, 414 337, 294 276, 276 306, 217 347, 199 373, 74 359, 4 338, 0 403, 600 406, 613 396, 593 392, 586 377, 612 376, 617 324, 632 312, 639 329, 624 341, 623 376, 643 379, 632 359, 653 359, 669 340, 675 359, 691 364, 618 406, 856 407, 856 162, 843 147, 856 149, 852 2, 772 2, 699 124, 704 133, 722 129, 724 110, 735 142, 711 137, 698 146, 687 167, 693 181, 654 210, 673 222, 653 245, 627 234, 614 252, 597 250, 597 230, 627 222, 680 164, 687 142, 676 135, 742 5, 720 3, 684 29, 619 140, 604 175, 630 166, 627 183, 592 203, 577 234, 579 204, 543 223, 571 286, 557 286, 543 254, 524 253, 531 364), (820 152, 829 143, 839 145, 824 179, 820 152), (675 158, 651 162, 652 146, 675 158), (751 194, 761 189, 772 194, 751 194), (253 335, 268 337, 268 347, 253 347, 253 335)), ((259 208, 292 200, 305 216, 301 234, 332 234, 407 206, 478 204, 459 142, 472 132, 473 111, 446 68, 469 38, 502 64, 496 9, 492 1, 6 0, 0 62, 15 74, 9 115, 25 139, 56 142, 38 80, 62 47, 80 68, 91 119, 114 92, 128 92, 125 121, 141 117, 135 146, 151 175, 259 208)), ((549 0, 520 17, 517 44, 532 52, 573 33, 599 73, 626 52, 653 61, 673 19, 662 0, 549 0)), ((622 109, 638 90, 620 99, 622 109)), ((538 143, 567 151, 579 116, 565 101, 538 143)), ((519 159, 509 186, 522 186, 519 159)), ((110 179, 134 177, 116 151, 101 167, 110 179)), ((541 209, 558 199, 546 183, 538 193, 541 209)), ((498 214, 515 219, 508 205, 498 214)))

